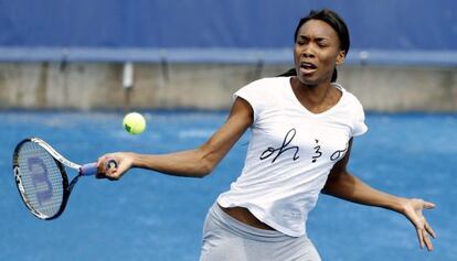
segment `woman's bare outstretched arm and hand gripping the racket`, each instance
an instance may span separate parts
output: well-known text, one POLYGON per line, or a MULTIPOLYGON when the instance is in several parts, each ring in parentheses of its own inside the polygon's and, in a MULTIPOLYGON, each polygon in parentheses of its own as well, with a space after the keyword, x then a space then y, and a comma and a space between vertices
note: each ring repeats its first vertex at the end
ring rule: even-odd
POLYGON ((225 123, 201 146, 194 150, 161 155, 134 152, 108 153, 98 159, 98 177, 119 180, 129 168, 140 167, 163 174, 203 177, 210 174, 230 149, 253 122, 251 105, 236 98, 225 123), (108 160, 116 160, 117 167, 105 170, 108 160))

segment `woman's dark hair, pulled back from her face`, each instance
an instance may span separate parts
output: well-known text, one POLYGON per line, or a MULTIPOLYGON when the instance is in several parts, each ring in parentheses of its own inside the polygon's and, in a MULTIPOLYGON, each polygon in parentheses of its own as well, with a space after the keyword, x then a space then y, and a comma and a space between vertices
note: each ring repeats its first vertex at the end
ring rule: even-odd
MULTIPOLYGON (((297 29, 295 30, 294 34, 294 42, 297 41, 298 31, 300 30, 301 25, 304 25, 309 20, 320 20, 329 24, 338 34, 338 37, 340 39, 340 50, 344 51, 344 55, 349 52, 349 46, 351 45, 350 39, 349 39, 349 30, 346 25, 344 21, 338 15, 336 12, 329 10, 329 9, 322 9, 320 11, 311 10, 307 17, 300 19, 298 22, 297 29)), ((284 74, 280 74, 278 76, 296 76, 297 72, 295 68, 291 68, 287 70, 284 74)), ((331 76, 331 81, 334 83, 338 78, 338 72, 337 68, 334 68, 333 74, 331 76)))

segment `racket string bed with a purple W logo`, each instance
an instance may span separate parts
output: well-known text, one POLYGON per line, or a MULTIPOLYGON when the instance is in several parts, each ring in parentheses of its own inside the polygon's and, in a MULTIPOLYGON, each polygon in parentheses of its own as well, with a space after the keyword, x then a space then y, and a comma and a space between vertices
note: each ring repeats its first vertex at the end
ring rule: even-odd
POLYGON ((24 200, 41 215, 52 217, 59 213, 63 197, 63 177, 54 159, 40 145, 22 145, 18 164, 24 200))

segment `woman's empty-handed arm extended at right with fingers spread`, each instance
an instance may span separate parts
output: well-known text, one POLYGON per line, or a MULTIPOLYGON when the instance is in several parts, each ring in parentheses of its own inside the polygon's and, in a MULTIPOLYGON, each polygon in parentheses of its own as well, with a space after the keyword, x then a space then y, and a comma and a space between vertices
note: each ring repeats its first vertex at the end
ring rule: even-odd
POLYGON ((337 162, 330 171, 322 193, 362 205, 386 208, 404 215, 415 226, 421 248, 424 248, 425 244, 428 251, 432 251, 433 244, 429 236, 436 238, 436 233, 422 211, 423 209, 434 208, 435 205, 418 198, 397 197, 376 191, 350 174, 347 165, 351 146, 352 139, 349 141, 344 157, 337 162))

